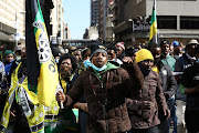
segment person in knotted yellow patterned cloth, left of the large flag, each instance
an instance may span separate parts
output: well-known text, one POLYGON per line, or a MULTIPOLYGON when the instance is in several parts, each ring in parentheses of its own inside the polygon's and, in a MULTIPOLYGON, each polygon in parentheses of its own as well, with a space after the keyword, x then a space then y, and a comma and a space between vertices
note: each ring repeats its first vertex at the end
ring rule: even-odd
POLYGON ((38 95, 29 90, 25 58, 13 71, 11 84, 0 122, 1 132, 7 130, 10 115, 15 117, 13 133, 42 132, 44 130, 44 109, 39 103, 38 95))

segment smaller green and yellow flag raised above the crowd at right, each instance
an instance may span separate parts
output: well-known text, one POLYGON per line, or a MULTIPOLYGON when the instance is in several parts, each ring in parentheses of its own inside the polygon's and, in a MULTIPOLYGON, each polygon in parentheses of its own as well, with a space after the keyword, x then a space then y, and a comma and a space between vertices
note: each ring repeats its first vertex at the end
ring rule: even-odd
POLYGON ((156 0, 154 0, 153 13, 150 19, 150 33, 149 33, 149 44, 158 43, 157 37, 157 18, 156 18, 156 0))

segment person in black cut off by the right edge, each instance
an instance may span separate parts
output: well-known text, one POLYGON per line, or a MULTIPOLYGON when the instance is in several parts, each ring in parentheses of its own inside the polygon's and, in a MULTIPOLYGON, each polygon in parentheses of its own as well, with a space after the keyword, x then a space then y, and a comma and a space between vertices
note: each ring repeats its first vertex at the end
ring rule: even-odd
POLYGON ((195 51, 197 60, 181 78, 181 84, 186 88, 182 93, 187 94, 185 122, 188 133, 199 132, 199 45, 195 51))

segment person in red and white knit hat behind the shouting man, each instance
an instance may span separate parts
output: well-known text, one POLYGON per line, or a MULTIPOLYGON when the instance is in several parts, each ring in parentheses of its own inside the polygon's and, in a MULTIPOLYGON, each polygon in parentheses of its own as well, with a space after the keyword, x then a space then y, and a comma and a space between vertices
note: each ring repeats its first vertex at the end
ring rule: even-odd
POLYGON ((125 57, 125 45, 124 45, 124 42, 117 42, 115 44, 115 48, 117 49, 117 53, 116 53, 117 58, 119 60, 123 60, 123 58, 125 57))

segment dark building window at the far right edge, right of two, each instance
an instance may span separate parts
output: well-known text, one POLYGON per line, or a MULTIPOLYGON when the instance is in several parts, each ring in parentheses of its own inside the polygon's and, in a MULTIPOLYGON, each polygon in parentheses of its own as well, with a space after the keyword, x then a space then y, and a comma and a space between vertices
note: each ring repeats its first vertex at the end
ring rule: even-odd
POLYGON ((180 17, 180 29, 199 29, 199 17, 180 17))

